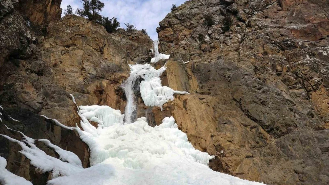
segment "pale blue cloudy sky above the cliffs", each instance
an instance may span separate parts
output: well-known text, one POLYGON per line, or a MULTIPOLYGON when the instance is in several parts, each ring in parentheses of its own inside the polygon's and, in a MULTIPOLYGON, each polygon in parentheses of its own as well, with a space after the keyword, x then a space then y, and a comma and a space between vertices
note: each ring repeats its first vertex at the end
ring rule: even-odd
MULTIPOLYGON (((159 22, 170 12, 172 4, 179 6, 186 0, 101 0, 105 4, 101 14, 112 18, 116 17, 120 27, 124 23, 133 24, 138 30, 146 29, 152 40, 158 38, 156 28, 159 22)), ((81 0, 63 0, 61 8, 71 5, 74 12, 81 8, 81 0)))

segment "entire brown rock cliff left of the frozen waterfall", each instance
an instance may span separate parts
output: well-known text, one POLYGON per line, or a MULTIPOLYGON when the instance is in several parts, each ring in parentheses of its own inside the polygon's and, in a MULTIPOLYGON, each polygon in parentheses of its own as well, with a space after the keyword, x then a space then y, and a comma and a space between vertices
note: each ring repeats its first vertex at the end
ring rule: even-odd
MULTIPOLYGON (((21 140, 7 125, 34 139, 48 139, 76 153, 88 167, 89 149, 78 134, 40 115, 67 126, 79 124, 70 94, 78 105, 109 105, 123 112, 125 96, 119 85, 129 76, 128 63, 147 60, 152 40, 138 31, 111 35, 100 24, 76 15, 60 19, 60 2, 0 2, 0 134, 21 140)), ((18 152, 19 145, 2 136, 0 145, 9 171, 35 185, 46 184, 50 174, 39 174, 18 152)))

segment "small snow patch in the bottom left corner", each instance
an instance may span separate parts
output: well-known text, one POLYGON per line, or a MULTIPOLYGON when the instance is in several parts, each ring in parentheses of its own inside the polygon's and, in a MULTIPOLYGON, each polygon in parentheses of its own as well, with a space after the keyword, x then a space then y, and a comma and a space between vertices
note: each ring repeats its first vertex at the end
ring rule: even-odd
POLYGON ((2 185, 33 185, 23 177, 17 176, 6 169, 7 160, 0 156, 0 184, 2 185))

